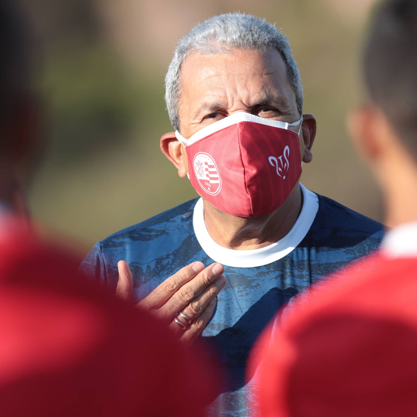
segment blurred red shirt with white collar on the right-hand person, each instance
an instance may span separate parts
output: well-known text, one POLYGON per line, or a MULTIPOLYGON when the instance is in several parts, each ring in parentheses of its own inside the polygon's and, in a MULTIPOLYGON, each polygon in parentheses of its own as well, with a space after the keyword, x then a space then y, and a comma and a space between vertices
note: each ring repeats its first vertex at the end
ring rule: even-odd
POLYGON ((415 236, 417 224, 390 231, 376 256, 265 329, 248 367, 254 416, 417 415, 415 236))

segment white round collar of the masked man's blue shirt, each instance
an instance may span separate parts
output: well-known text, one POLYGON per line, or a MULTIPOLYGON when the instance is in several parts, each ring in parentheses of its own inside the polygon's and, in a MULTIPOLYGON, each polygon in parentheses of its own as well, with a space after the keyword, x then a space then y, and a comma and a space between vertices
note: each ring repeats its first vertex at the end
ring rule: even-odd
POLYGON ((292 229, 282 239, 269 246, 247 251, 224 248, 211 238, 204 223, 203 199, 199 198, 194 207, 193 226, 203 251, 216 262, 240 268, 267 265, 288 255, 304 239, 319 209, 317 195, 307 190, 301 183, 299 184, 303 193, 303 207, 292 229))

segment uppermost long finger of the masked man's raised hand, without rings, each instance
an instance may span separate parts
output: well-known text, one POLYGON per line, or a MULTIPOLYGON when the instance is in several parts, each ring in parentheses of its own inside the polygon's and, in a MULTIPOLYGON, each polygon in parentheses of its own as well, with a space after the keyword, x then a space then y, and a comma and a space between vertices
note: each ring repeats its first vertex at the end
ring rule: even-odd
POLYGON ((198 261, 184 266, 184 268, 181 268, 178 272, 159 284, 156 289, 151 292, 151 294, 138 303, 140 304, 138 306, 147 309, 160 308, 173 296, 173 294, 176 293, 176 291, 178 291, 178 289, 193 279, 203 269, 203 263, 198 261))

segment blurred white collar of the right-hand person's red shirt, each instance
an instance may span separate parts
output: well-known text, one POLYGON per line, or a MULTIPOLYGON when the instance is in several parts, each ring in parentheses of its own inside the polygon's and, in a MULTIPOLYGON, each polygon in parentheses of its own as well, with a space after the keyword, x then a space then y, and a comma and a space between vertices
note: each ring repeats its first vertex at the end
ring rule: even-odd
POLYGON ((390 258, 417 257, 417 222, 405 223, 387 231, 381 250, 390 258))

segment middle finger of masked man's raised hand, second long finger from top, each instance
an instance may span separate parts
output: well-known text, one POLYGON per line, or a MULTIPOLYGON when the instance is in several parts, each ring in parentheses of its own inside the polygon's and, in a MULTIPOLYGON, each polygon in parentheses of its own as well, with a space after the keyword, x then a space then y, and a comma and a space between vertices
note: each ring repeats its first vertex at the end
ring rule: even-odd
MULTIPOLYGON (((201 271, 194 279, 188 281, 186 284, 181 286, 181 288, 176 291, 173 296, 159 309, 159 314, 162 318, 165 319, 171 319, 176 313, 184 309, 191 301, 193 301, 198 294, 203 291, 204 289, 208 288, 214 281, 221 276, 221 274, 224 272, 224 267, 222 264, 211 264, 206 269, 201 271)), ((221 288, 220 288, 221 289, 221 288)), ((220 291, 219 289, 219 291, 220 291)), ((216 286, 212 286, 210 290, 208 290, 208 293, 205 293, 206 298, 204 300, 207 300, 207 296, 209 296, 209 293, 216 292, 216 286)), ((218 294, 218 291, 214 296, 218 294)), ((213 298, 213 296, 209 296, 210 299, 213 298)), ((201 301, 201 300, 200 300, 201 301)), ((210 301, 210 300, 208 300, 210 301)), ((194 304, 196 309, 201 309, 201 304, 194 304)))

